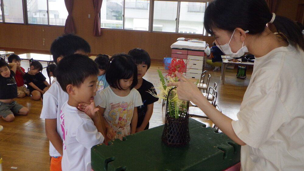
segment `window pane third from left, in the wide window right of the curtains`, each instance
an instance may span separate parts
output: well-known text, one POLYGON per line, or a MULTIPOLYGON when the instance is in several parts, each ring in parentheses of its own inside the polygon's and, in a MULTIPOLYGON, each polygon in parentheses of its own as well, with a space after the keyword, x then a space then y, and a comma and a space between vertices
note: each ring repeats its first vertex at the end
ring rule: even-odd
POLYGON ((153 31, 175 32, 177 2, 154 1, 153 31))

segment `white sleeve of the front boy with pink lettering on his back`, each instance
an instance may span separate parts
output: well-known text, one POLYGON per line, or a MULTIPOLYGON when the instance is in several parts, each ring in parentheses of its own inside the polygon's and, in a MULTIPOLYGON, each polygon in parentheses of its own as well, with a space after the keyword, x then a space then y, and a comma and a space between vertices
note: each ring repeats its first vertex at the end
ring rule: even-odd
POLYGON ((103 143, 103 135, 97 131, 93 120, 88 120, 77 128, 76 140, 85 148, 103 143))

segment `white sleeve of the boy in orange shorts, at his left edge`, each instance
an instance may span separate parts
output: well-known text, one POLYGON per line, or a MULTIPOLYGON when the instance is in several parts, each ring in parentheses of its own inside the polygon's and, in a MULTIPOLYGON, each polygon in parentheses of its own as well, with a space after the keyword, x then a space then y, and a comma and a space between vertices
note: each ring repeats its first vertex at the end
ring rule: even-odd
POLYGON ((45 92, 42 103, 40 118, 57 119, 58 100, 51 93, 45 92))

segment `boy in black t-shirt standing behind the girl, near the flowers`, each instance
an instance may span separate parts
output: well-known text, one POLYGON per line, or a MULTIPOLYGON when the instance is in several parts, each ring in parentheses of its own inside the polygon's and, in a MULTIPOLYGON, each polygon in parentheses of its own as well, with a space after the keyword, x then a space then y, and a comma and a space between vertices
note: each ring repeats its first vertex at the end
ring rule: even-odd
POLYGON ((130 50, 128 54, 133 57, 137 65, 138 83, 134 88, 137 89, 142 96, 143 105, 137 107, 138 121, 136 132, 140 132, 149 129, 149 120, 153 113, 153 103, 156 102, 158 98, 149 93, 149 91, 151 91, 156 94, 153 84, 142 78, 151 65, 149 54, 145 50, 139 48, 130 50))

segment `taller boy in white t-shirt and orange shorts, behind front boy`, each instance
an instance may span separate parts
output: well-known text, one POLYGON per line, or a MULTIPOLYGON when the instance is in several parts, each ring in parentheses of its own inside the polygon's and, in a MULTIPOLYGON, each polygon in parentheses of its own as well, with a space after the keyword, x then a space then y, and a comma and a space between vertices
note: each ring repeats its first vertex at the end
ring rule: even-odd
MULTIPOLYGON (((76 35, 67 34, 56 38, 51 44, 50 51, 54 62, 58 65, 65 56, 70 54, 87 55, 91 49, 86 40, 76 35)), ((61 73, 56 74, 60 75, 61 73)), ((40 118, 45 119, 45 134, 50 140, 50 171, 61 170, 63 135, 60 126, 60 109, 67 100, 68 94, 61 89, 58 82, 54 82, 43 95, 40 118)), ((99 95, 95 97, 96 105, 100 104, 101 101, 99 95)))

